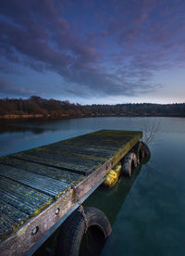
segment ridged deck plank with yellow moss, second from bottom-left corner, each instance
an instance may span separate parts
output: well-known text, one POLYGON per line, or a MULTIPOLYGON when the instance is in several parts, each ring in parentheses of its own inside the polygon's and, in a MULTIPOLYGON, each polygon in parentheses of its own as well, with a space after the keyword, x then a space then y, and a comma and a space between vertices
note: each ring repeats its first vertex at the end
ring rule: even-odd
POLYGON ((38 213, 54 199, 30 186, 24 186, 5 177, 0 179, 0 198, 28 215, 38 213))

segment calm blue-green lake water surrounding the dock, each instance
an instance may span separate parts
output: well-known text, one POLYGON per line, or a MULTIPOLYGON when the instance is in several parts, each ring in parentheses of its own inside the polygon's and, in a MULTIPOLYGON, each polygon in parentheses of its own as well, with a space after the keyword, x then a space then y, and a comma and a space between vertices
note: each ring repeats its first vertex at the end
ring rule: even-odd
POLYGON ((97 189, 85 205, 105 211, 113 226, 102 255, 185 255, 185 119, 1 122, 0 155, 99 129, 146 133, 153 127, 151 160, 135 170, 132 179, 121 178, 117 186, 106 191, 97 189))

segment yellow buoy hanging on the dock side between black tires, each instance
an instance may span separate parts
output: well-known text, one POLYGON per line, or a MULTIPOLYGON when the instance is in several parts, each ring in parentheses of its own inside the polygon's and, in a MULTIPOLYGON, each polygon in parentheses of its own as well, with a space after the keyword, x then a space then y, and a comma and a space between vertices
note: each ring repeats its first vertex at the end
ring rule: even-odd
POLYGON ((104 185, 114 186, 117 183, 120 172, 121 172, 121 163, 118 162, 117 165, 105 175, 104 185))

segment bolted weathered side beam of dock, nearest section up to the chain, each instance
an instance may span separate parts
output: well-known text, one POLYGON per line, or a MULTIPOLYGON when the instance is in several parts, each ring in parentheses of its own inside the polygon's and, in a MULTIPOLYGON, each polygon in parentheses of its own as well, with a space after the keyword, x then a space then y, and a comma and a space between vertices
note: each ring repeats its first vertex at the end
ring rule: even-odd
POLYGON ((29 224, 24 224, 11 237, 0 243, 1 255, 15 256, 25 254, 46 231, 70 210, 74 203, 74 193, 72 190, 68 190, 54 204, 51 204, 45 211, 32 218, 29 224), (59 210, 58 214, 56 214, 56 210, 59 210), (35 227, 38 227, 38 232, 33 236, 32 230, 35 227))

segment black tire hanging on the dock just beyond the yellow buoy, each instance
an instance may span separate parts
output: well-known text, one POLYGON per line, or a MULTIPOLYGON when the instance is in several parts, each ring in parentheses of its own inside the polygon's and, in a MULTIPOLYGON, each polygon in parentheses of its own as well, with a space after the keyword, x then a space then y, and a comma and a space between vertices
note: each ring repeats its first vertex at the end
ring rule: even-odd
POLYGON ((131 177, 133 169, 137 166, 137 157, 133 152, 129 152, 123 160, 123 174, 131 177))

